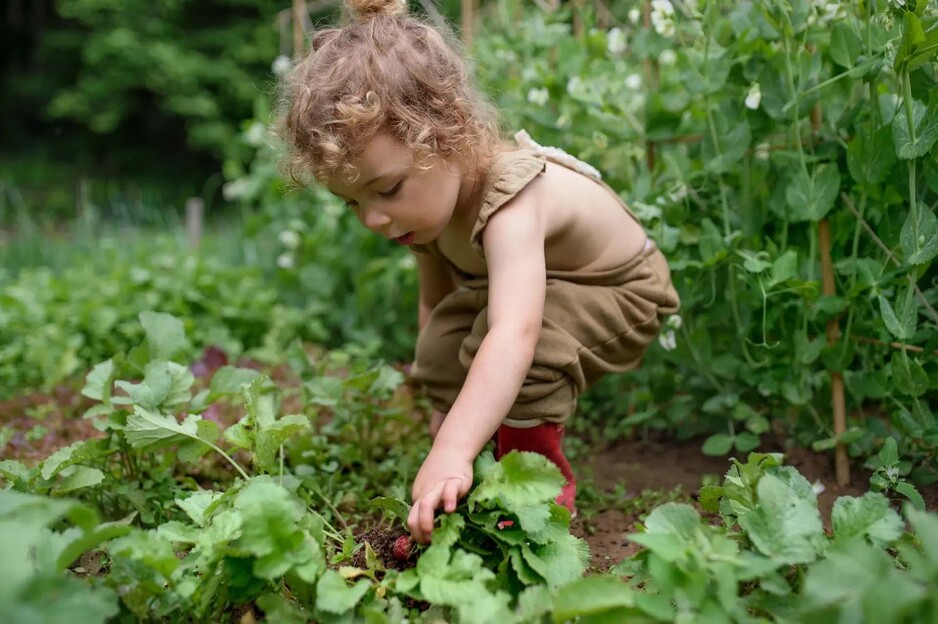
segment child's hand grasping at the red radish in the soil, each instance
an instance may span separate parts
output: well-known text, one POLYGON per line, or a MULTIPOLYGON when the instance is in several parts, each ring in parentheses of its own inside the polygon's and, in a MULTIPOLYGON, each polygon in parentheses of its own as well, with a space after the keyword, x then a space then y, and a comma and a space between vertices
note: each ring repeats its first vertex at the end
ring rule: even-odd
POLYGON ((447 513, 456 511, 456 501, 472 487, 472 457, 453 449, 430 450, 414 479, 413 500, 407 518, 414 540, 430 543, 434 513, 441 506, 447 513))

